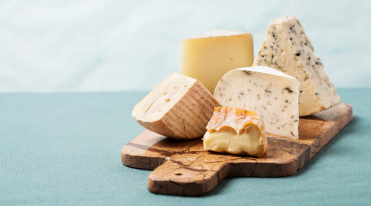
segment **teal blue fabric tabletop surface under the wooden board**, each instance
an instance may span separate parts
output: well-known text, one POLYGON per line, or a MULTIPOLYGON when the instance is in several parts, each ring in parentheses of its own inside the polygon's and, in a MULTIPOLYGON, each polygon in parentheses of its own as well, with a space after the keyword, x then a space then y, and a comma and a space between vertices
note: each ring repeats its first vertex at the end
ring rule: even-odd
POLYGON ((147 92, 0 94, 0 205, 370 205, 371 89, 339 89, 355 118, 297 174, 227 178, 200 197, 151 194, 121 163, 147 92))

